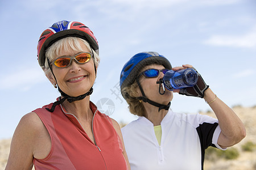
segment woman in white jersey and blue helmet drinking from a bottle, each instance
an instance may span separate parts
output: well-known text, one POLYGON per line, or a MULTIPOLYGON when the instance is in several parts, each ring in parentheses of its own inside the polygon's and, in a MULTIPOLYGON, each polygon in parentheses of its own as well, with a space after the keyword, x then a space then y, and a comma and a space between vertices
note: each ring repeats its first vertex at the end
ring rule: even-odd
MULTIPOLYGON (((138 120, 122 128, 131 169, 203 169, 208 146, 225 150, 245 137, 241 120, 207 86, 199 75, 197 84, 174 92, 204 98, 217 120, 200 114, 172 112, 173 92, 160 82, 164 73, 192 68, 171 63, 156 52, 133 56, 123 67, 120 86, 130 112, 138 120)), ((184 106, 185 107, 185 106, 184 106)))

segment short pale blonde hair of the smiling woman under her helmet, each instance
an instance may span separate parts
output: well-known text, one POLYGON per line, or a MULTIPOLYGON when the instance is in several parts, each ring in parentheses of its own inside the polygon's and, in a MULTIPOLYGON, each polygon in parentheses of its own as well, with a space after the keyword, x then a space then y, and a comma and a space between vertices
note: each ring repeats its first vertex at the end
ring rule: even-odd
MULTIPOLYGON (((77 52, 81 52, 82 48, 80 45, 80 41, 82 41, 89 50, 92 49, 90 48, 89 43, 84 39, 80 39, 79 37, 65 37, 63 39, 60 39, 54 42, 46 50, 46 61, 44 62, 44 67, 42 67, 46 76, 52 76, 52 72, 49 69, 48 60, 49 62, 52 62, 55 59, 55 56, 59 56, 61 50, 64 50, 64 52, 69 52, 69 50, 75 50, 77 52)), ((90 52, 93 53, 94 63, 95 63, 95 66, 97 67, 98 64, 100 63, 100 56, 98 56, 98 54, 93 49, 90 52)))

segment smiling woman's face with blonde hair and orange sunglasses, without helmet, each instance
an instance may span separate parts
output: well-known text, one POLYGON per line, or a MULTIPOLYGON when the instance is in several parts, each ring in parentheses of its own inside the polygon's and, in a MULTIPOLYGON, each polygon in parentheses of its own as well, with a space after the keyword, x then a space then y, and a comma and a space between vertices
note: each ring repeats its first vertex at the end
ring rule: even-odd
POLYGON ((98 63, 94 65, 94 61, 99 61, 99 57, 97 54, 93 55, 90 49, 87 41, 77 37, 66 37, 48 48, 46 57, 52 59, 46 61, 48 63, 47 77, 52 84, 57 84, 63 96, 82 95, 81 97, 84 97, 86 92, 92 91, 98 67, 98 63), (56 51, 55 46, 60 47, 59 51, 56 51), (97 58, 94 59, 94 56, 97 58), (87 59, 84 61, 84 58, 87 59), (81 82, 82 80, 85 81, 81 82))

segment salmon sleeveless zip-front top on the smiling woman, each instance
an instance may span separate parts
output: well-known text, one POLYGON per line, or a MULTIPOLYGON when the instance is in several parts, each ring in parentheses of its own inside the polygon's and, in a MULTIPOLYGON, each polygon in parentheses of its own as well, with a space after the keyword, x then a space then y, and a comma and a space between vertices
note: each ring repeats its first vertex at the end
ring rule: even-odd
POLYGON ((97 110, 90 102, 94 113, 92 122, 95 144, 90 140, 77 118, 57 105, 36 109, 51 137, 51 151, 44 159, 35 159, 35 169, 128 169, 123 157, 123 146, 112 120, 97 110))

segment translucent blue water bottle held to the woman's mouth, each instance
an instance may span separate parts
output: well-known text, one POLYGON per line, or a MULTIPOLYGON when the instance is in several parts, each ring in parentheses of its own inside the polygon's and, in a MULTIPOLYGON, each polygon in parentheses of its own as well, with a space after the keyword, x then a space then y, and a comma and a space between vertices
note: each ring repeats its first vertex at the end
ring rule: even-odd
POLYGON ((197 83, 198 75, 193 69, 169 70, 163 76, 164 87, 174 89, 192 87, 197 83))

